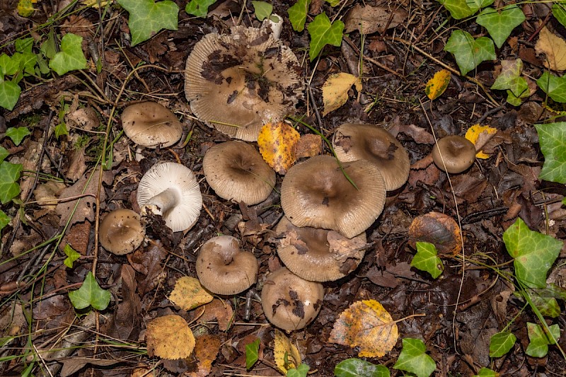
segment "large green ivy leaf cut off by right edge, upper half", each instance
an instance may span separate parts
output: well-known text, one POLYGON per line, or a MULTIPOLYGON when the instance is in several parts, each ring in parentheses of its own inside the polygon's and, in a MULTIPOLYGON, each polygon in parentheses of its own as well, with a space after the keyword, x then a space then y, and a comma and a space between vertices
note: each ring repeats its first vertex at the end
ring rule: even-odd
POLYGON ((566 183, 566 122, 535 124, 544 164, 538 178, 566 183))

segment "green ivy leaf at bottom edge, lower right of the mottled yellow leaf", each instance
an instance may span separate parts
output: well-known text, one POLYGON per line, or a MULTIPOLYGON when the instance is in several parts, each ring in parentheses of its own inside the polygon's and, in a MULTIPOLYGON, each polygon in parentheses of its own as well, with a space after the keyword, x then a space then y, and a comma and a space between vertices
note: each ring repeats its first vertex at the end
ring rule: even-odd
POLYGON ((427 347, 420 339, 403 339, 403 349, 393 366, 400 371, 415 373, 417 377, 428 377, 437 368, 432 357, 427 355, 427 347))

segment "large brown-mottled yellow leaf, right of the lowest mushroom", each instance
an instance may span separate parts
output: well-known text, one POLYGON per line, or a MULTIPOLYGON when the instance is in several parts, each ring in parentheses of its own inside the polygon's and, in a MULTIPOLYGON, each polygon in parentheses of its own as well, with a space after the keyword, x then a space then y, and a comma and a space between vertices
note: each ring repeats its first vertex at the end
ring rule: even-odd
POLYGON ((397 325, 375 300, 356 301, 340 314, 328 342, 359 347, 360 357, 381 357, 397 342, 397 325))

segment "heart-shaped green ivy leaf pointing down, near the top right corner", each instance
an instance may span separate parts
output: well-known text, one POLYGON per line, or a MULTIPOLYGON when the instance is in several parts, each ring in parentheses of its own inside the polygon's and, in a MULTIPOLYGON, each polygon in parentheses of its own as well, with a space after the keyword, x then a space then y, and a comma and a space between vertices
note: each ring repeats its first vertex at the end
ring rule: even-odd
POLYGON ((501 48, 514 28, 525 21, 525 15, 518 6, 505 7, 501 13, 494 8, 485 8, 475 19, 490 33, 490 36, 498 48, 501 48))

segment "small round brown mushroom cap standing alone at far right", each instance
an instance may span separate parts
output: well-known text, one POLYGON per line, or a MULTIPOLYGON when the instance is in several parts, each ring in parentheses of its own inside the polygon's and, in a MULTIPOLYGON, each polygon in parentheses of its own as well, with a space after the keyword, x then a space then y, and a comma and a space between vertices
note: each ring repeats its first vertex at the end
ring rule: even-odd
POLYGON ((440 170, 447 173, 462 173, 475 161, 475 146, 465 137, 458 135, 442 137, 432 147, 432 161, 440 170), (443 159, 444 163, 442 163, 443 159))

